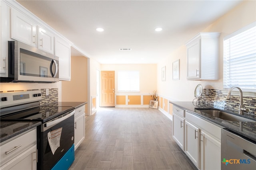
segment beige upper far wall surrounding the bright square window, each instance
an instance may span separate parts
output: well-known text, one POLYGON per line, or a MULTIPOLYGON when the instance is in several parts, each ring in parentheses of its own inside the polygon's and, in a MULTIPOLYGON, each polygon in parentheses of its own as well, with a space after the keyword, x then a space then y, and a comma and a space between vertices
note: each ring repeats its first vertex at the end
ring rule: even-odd
MULTIPOLYGON (((154 90, 156 90, 156 64, 101 64, 101 70, 115 71, 115 87, 116 88, 118 84, 118 81, 117 81, 118 70, 138 70, 140 72, 140 92, 139 93, 152 93, 154 90)), ((116 90, 116 93, 118 94, 119 92, 116 90)), ((130 92, 130 93, 133 93, 133 92, 130 92)))

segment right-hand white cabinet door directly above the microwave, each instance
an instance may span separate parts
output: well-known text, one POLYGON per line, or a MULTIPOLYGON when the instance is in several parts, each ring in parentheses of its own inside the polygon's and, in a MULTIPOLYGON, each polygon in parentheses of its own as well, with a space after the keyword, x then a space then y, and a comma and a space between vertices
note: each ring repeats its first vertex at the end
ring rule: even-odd
POLYGON ((38 26, 38 49, 54 53, 54 35, 38 26))

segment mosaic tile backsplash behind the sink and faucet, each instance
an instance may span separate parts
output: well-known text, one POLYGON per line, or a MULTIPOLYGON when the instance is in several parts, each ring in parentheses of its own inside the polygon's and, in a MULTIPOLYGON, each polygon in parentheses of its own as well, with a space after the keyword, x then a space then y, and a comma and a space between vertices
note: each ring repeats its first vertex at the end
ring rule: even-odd
MULTIPOLYGON (((209 89, 209 95, 206 95, 206 89, 202 92, 202 100, 204 103, 213 106, 239 111, 240 96, 239 94, 231 94, 230 100, 226 100, 228 90, 209 89)), ((243 96, 243 104, 249 109, 245 114, 256 115, 256 97, 243 96)))

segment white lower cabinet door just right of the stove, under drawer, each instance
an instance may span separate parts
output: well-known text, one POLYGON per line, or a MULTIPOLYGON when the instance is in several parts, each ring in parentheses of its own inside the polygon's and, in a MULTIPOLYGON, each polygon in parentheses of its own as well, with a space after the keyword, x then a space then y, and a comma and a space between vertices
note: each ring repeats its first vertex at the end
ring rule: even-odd
POLYGON ((75 119, 75 139, 74 145, 75 150, 82 143, 85 138, 85 114, 81 114, 75 119))

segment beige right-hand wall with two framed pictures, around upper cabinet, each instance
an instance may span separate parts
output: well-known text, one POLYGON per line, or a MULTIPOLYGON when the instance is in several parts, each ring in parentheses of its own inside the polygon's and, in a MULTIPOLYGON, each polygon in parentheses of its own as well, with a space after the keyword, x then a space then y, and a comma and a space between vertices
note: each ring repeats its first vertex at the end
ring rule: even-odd
MULTIPOLYGON (((158 94, 170 100, 192 101, 197 84, 203 88, 223 89, 223 37, 256 21, 256 1, 244 1, 239 6, 219 18, 202 32, 220 32, 219 40, 219 80, 186 79, 186 46, 182 45, 169 57, 157 64, 158 94), (172 80, 172 62, 180 59, 180 80, 172 80), (166 82, 161 81, 161 68, 166 66, 166 82)), ((197 32, 194 33, 196 35, 197 32)), ((188 37, 188 40, 192 37, 188 37)))

